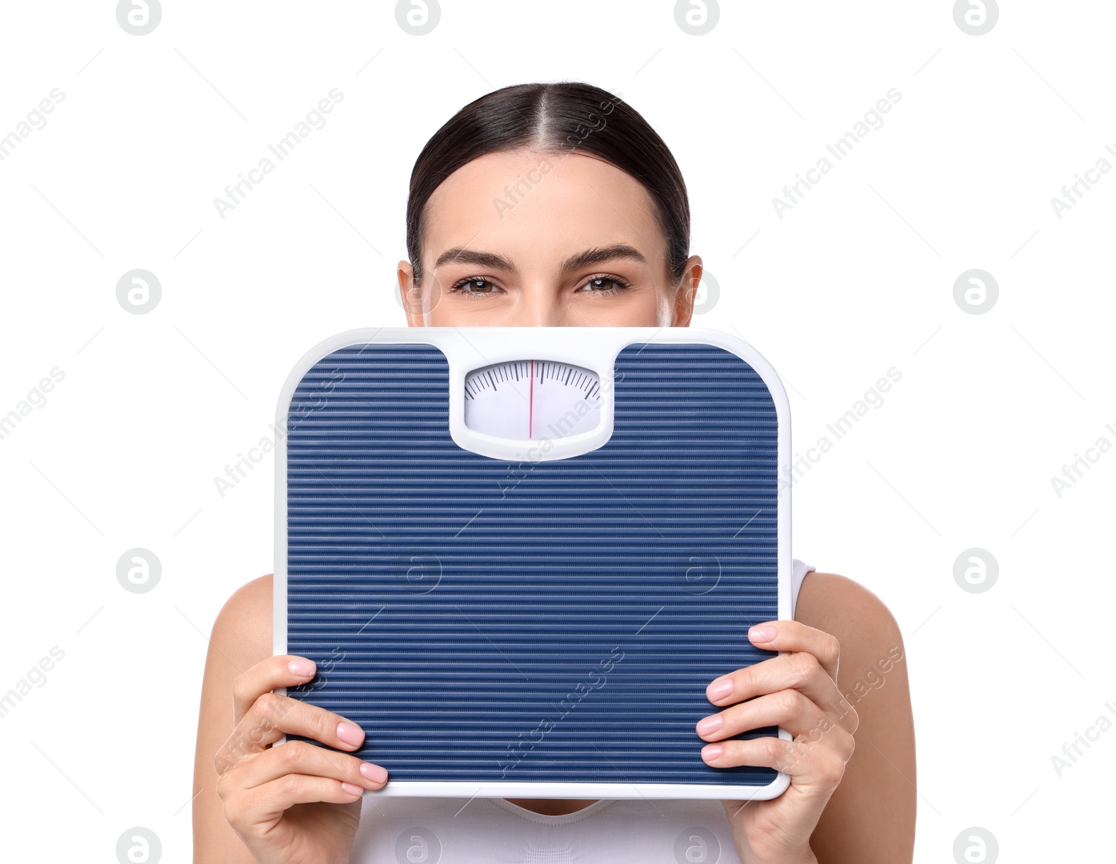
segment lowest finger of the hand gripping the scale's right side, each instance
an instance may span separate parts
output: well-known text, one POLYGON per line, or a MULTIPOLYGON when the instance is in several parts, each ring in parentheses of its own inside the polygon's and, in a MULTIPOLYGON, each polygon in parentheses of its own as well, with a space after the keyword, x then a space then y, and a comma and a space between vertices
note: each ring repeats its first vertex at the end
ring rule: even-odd
POLYGON ((791 778, 791 786, 817 787, 831 791, 845 774, 845 764, 855 749, 853 736, 834 728, 822 741, 764 736, 762 738, 731 739, 709 743, 701 756, 713 768, 737 768, 748 765, 775 768, 791 778))

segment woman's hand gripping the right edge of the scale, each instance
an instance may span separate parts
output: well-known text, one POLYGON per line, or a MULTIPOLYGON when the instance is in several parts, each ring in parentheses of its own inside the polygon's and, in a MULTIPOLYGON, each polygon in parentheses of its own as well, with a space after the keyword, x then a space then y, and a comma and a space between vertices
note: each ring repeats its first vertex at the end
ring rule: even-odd
POLYGON ((853 756, 856 710, 837 688, 837 640, 795 621, 769 621, 748 631, 756 647, 786 651, 722 675, 705 690, 723 707, 698 723, 705 764, 776 768, 790 787, 771 800, 723 800, 737 851, 745 864, 816 864, 810 835, 853 756), (723 740, 778 726, 793 741, 763 737, 723 740), (718 752, 719 751, 719 752, 718 752))

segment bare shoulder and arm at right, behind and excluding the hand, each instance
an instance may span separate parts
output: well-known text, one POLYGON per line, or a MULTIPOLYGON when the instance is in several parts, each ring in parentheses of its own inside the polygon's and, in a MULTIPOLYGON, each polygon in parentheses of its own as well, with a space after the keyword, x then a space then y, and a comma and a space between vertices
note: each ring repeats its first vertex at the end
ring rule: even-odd
POLYGON ((903 864, 914 855, 914 719, 895 618, 867 588, 810 573, 797 621, 836 636, 837 687, 859 716, 856 750, 810 837, 819 864, 903 864))

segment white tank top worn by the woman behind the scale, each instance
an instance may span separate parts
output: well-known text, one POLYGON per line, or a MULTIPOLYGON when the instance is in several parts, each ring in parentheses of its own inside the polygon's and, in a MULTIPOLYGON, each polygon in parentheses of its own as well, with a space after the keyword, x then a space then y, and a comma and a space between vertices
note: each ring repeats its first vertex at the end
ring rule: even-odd
MULTIPOLYGON (((795 559, 792 614, 812 569, 795 559)), ((367 791, 349 861, 740 864, 740 856, 719 800, 598 800, 566 816, 545 816, 503 798, 395 798, 367 791)))

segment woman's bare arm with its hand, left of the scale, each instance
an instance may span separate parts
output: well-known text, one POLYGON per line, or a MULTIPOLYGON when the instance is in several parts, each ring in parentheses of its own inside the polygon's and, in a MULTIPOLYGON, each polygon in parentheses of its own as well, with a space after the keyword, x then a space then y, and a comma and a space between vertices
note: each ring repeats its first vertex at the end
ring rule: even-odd
POLYGON ((364 731, 339 714, 278 695, 314 680, 312 661, 271 656, 271 576, 225 603, 210 639, 194 756, 194 861, 347 864, 366 789, 381 766, 327 750, 359 749, 364 731))

